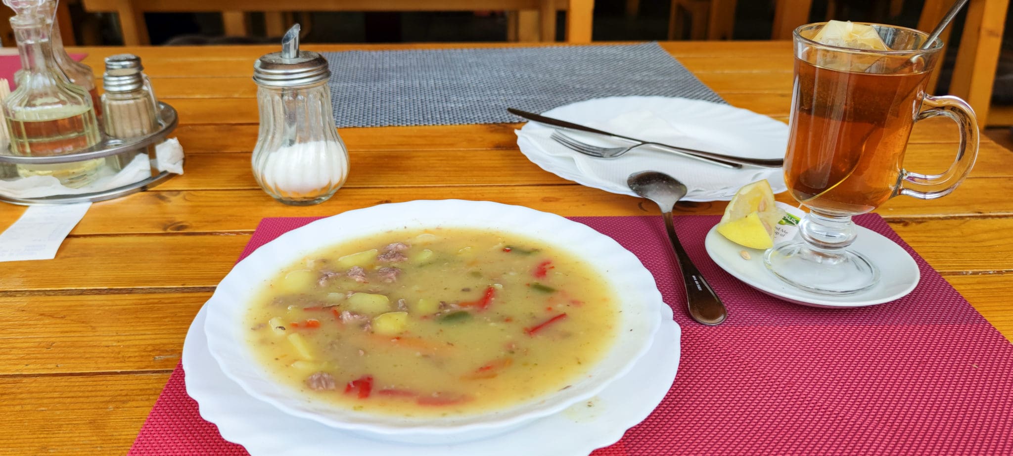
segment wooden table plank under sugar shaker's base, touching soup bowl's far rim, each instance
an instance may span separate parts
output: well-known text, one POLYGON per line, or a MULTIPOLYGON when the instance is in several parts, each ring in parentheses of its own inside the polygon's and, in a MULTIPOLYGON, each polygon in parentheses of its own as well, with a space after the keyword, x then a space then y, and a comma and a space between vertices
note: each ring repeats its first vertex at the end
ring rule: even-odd
MULTIPOLYGON (((946 198, 932 201, 897 198, 883 205, 878 212, 890 220, 1006 217, 1013 215, 1013 200, 1005 191, 1010 185, 1013 185, 1013 178, 1010 177, 970 178, 946 198)), ((126 197, 114 203, 95 204, 72 234, 244 232, 252 230, 263 217, 329 216, 387 202, 455 198, 522 205, 567 216, 644 213, 639 199, 575 184, 345 187, 326 203, 304 208, 277 203, 258 187, 154 191, 126 197), (137 217, 137 214, 145 214, 145 217, 137 217)), ((796 204, 787 193, 777 198, 784 203, 796 204)), ((679 208, 682 214, 721 214, 724 207, 724 202, 710 202, 686 203, 679 208)), ((0 206, 0 218, 13 219, 23 209, 18 207, 0 206)), ((170 247, 166 245, 164 248, 170 247)))

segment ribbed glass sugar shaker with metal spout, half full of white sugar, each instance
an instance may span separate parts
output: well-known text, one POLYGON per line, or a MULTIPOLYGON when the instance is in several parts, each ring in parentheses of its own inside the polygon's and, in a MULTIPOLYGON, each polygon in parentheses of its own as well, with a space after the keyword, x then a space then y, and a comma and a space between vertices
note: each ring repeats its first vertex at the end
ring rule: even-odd
POLYGON ((253 176, 267 195, 294 206, 329 199, 348 176, 348 152, 334 128, 327 61, 299 50, 299 24, 282 39, 282 52, 253 64, 260 130, 253 176))

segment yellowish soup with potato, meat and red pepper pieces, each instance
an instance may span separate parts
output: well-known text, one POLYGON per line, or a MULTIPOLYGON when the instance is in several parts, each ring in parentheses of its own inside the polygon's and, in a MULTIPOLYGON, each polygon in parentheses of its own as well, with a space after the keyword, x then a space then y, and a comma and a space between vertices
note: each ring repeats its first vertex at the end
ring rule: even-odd
POLYGON ((486 412, 566 388, 615 338, 617 298, 573 255, 509 233, 399 230, 284 270, 249 343, 313 400, 378 414, 486 412))

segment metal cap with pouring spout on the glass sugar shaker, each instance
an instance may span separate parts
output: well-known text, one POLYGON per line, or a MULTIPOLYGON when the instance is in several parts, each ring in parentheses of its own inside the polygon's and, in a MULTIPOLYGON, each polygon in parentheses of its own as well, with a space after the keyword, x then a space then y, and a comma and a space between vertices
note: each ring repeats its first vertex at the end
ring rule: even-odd
POLYGON ((270 53, 253 63, 253 82, 274 87, 296 87, 330 78, 323 56, 299 50, 299 24, 282 37, 282 52, 270 53))

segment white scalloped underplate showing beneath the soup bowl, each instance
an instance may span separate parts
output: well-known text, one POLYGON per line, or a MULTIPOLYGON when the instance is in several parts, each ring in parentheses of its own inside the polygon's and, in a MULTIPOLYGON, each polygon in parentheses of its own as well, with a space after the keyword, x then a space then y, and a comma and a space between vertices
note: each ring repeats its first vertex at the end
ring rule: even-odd
POLYGON ((668 305, 658 309, 660 328, 650 350, 629 373, 588 401, 487 440, 431 446, 380 442, 286 414, 246 394, 219 369, 204 333, 207 307, 193 318, 183 344, 186 393, 225 440, 254 456, 333 454, 336 449, 349 456, 587 455, 619 441, 627 429, 650 414, 672 387, 681 330, 668 305))

